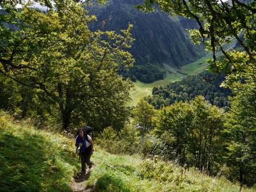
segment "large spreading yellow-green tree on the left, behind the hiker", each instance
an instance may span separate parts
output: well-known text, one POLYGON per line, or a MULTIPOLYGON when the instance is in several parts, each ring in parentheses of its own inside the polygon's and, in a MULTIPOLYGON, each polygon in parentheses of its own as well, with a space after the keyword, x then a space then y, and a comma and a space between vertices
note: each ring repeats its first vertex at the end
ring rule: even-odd
MULTIPOLYGON (((63 129, 77 120, 88 122, 91 111, 98 115, 96 111, 103 111, 105 106, 118 111, 114 116, 120 114, 129 100, 131 83, 116 72, 131 67, 134 61, 124 51, 134 40, 132 25, 121 30, 122 35, 93 32, 88 23, 96 18, 87 15, 83 3, 43 2, 49 9, 45 13, 29 8, 29 4, 20 10, 4 4, 0 73, 44 95, 48 104, 59 109, 63 129)), ((111 112, 101 112, 101 117, 108 118, 107 113, 111 112)), ((113 120, 105 122, 109 125, 113 120)))

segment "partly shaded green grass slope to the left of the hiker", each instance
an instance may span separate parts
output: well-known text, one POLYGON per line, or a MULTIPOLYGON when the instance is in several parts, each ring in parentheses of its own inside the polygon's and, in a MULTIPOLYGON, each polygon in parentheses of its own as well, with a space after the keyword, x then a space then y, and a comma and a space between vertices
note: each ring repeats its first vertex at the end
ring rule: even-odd
POLYGON ((74 143, 0 114, 0 191, 72 191, 74 143))

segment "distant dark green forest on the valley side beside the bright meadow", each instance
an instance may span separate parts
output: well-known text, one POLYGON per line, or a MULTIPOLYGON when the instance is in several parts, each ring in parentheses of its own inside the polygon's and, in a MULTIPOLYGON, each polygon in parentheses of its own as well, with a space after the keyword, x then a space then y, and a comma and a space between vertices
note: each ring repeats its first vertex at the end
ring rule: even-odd
POLYGON ((159 109, 162 106, 170 106, 174 102, 189 101, 202 95, 205 100, 215 106, 227 107, 231 91, 228 88, 220 87, 224 80, 223 74, 210 74, 209 72, 186 76, 181 81, 154 87, 153 96, 148 97, 147 100, 154 108, 159 109))

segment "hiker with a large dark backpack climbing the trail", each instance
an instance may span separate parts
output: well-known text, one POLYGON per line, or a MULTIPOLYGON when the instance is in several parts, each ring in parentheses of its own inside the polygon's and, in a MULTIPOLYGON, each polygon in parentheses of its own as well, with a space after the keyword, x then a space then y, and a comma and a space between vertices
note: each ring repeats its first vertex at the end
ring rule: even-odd
POLYGON ((78 135, 76 137, 76 154, 79 149, 79 159, 81 159, 81 174, 85 173, 86 164, 89 168, 92 168, 92 161, 90 158, 94 151, 92 138, 86 134, 84 129, 79 129, 78 135))

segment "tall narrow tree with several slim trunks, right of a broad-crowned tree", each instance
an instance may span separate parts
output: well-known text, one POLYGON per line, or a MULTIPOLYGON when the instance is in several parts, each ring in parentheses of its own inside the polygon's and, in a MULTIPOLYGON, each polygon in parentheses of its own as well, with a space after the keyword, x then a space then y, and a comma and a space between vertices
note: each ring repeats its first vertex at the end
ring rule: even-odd
POLYGON ((225 114, 202 96, 193 99, 191 107, 194 116, 189 138, 189 152, 193 154, 191 159, 199 170, 212 173, 214 164, 221 162, 225 114))

